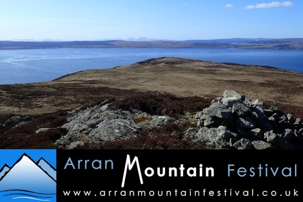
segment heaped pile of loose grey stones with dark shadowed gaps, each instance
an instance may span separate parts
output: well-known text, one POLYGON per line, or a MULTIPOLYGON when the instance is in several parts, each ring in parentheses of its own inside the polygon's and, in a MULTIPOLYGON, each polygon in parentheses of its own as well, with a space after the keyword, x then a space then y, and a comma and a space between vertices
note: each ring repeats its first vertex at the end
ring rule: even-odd
POLYGON ((215 149, 296 149, 303 146, 303 124, 279 106, 265 107, 260 99, 225 90, 196 113, 196 128, 186 131, 194 141, 215 149))

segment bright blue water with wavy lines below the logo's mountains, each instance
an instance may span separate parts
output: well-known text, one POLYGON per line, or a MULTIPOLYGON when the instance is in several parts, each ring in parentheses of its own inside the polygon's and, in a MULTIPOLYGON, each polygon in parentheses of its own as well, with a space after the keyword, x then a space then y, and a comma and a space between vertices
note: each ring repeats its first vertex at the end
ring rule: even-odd
POLYGON ((0 191, 0 201, 23 202, 23 201, 47 201, 56 202, 56 193, 37 193, 22 189, 0 191))

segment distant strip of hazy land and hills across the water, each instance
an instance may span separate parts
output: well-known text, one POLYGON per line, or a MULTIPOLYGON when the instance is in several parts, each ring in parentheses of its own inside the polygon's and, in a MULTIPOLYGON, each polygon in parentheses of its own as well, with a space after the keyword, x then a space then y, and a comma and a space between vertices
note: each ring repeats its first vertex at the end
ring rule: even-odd
POLYGON ((0 41, 0 49, 37 48, 244 48, 303 51, 303 38, 228 38, 211 40, 160 40, 129 38, 94 41, 0 41))

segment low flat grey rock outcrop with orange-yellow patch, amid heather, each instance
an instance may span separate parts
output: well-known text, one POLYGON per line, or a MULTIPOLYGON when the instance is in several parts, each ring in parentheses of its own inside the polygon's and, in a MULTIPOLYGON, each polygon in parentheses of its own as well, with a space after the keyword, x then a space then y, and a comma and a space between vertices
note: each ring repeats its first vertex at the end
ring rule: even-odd
POLYGON ((68 133, 58 139, 56 144, 72 149, 85 142, 128 139, 139 135, 143 128, 178 122, 168 116, 153 116, 135 110, 108 110, 109 105, 100 104, 83 111, 78 109, 69 112, 68 123, 62 126, 68 133))

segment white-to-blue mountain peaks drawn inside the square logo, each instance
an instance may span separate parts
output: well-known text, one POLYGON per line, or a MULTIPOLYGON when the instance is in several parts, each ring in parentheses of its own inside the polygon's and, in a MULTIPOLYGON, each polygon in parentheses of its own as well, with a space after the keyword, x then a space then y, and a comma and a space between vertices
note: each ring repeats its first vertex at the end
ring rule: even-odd
MULTIPOLYGON (((44 161, 44 160, 43 160, 44 161)), ((56 193, 56 177, 54 173, 48 174, 42 168, 52 168, 48 163, 39 160, 41 167, 39 167, 31 158, 24 154, 12 166, 11 169, 5 172, 0 180, 0 191, 21 189, 33 191, 36 193, 56 193), (47 164, 47 165, 46 165, 47 164)), ((7 170, 7 165, 3 170, 7 170)), ((56 176, 56 175, 55 175, 56 176)))

